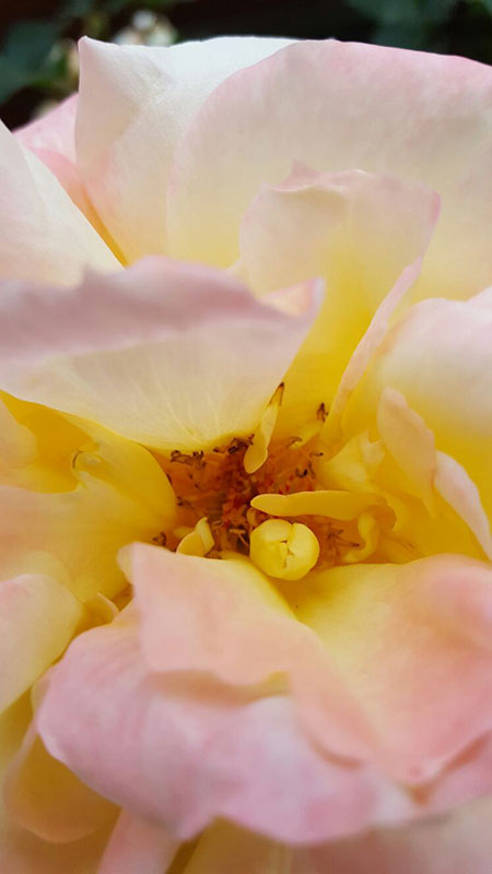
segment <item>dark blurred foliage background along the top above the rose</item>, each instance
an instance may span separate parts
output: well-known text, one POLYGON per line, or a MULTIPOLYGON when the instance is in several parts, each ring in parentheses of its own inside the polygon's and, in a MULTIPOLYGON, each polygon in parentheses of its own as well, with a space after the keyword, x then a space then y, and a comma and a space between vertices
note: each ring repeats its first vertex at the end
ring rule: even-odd
POLYGON ((0 44, 0 106, 8 123, 77 87, 75 40, 166 45, 231 33, 339 37, 464 55, 492 63, 492 0, 30 0, 0 44), (39 15, 42 12, 42 15, 39 15))

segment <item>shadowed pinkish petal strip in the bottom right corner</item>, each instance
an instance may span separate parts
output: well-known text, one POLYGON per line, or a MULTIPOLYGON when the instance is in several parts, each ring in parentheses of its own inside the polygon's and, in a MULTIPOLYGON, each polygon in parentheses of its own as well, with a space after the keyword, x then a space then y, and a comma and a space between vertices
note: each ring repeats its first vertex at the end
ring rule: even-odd
POLYGON ((490 874, 492 802, 294 852, 292 874, 490 874))

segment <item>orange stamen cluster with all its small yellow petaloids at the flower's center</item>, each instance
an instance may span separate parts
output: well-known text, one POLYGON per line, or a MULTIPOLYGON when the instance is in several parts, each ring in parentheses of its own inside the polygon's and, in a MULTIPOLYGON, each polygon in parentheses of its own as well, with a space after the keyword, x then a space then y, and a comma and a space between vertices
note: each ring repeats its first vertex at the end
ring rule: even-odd
POLYGON ((239 552, 281 579, 372 555, 384 499, 368 489, 319 487, 323 406, 302 434, 271 439, 281 393, 279 387, 251 437, 209 452, 176 450, 161 461, 178 508, 167 548, 211 557, 239 552))

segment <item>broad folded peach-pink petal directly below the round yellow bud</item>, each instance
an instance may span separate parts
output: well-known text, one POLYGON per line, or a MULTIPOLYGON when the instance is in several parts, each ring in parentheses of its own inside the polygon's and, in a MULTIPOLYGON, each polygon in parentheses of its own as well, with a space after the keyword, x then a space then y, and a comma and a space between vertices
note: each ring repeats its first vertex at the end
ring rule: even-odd
POLYGON ((324 659, 248 563, 143 545, 124 556, 153 670, 209 670, 234 684, 283 672, 318 743, 408 782, 438 773, 492 728, 487 564, 358 565, 282 584, 293 614, 324 641, 324 659))

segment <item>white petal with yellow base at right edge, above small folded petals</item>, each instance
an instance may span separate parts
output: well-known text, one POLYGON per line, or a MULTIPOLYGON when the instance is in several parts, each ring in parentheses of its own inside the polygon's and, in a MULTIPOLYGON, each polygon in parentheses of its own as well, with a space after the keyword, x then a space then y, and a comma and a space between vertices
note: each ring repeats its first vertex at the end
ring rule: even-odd
POLYGON ((479 489, 492 519, 492 310, 485 296, 413 306, 386 335, 344 416, 345 433, 372 427, 386 387, 396 389, 479 489))

